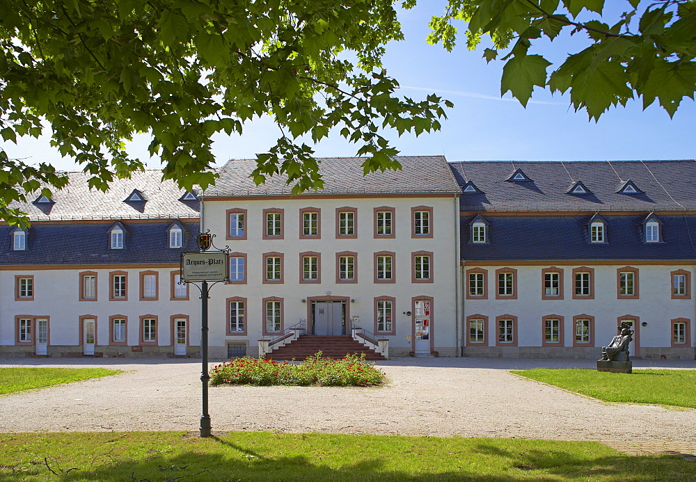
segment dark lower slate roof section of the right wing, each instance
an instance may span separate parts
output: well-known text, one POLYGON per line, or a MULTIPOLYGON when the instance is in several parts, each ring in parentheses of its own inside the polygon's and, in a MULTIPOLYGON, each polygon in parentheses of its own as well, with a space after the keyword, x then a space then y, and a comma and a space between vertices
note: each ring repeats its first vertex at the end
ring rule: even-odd
POLYGON ((486 216, 487 244, 470 243, 469 223, 461 216, 461 258, 476 261, 541 259, 695 259, 696 215, 661 214, 663 243, 645 243, 646 214, 603 215, 607 243, 590 243, 592 216, 486 216))

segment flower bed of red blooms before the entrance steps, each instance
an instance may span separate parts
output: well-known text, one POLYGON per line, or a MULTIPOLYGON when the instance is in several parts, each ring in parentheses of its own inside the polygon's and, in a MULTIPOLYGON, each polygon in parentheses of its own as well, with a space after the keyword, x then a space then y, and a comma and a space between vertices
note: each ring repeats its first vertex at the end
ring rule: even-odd
POLYGON ((365 362, 365 355, 347 355, 334 360, 322 352, 301 363, 264 358, 237 358, 210 371, 210 385, 318 385, 329 387, 379 385, 384 373, 365 362))

